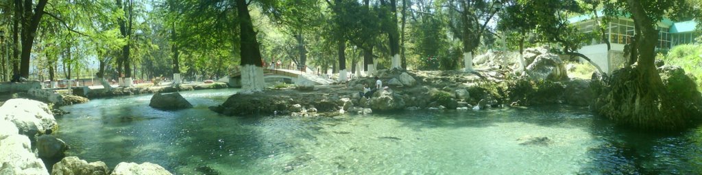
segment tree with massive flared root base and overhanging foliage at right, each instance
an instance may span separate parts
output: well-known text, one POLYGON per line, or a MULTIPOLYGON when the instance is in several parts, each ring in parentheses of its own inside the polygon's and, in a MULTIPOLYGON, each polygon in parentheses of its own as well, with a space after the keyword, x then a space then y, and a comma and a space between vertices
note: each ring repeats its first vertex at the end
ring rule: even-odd
MULTIPOLYGON (((592 36, 580 34, 565 18, 569 14, 590 13, 595 7, 590 6, 588 10, 588 7, 583 8, 576 1, 560 0, 518 1, 518 4, 526 9, 519 12, 524 13, 522 20, 528 20, 526 24, 531 26, 527 27, 534 27, 543 40, 559 43, 564 54, 590 61, 576 50, 583 41, 592 39, 592 36)), ((601 80, 595 80, 601 82, 600 85, 595 85, 595 91, 599 95, 595 100, 595 111, 618 124, 649 130, 675 130, 684 127, 689 116, 694 116, 697 109, 689 107, 694 106, 689 105, 689 100, 686 102, 685 99, 690 97, 676 97, 663 85, 654 64, 655 47, 658 42, 656 23, 662 20, 664 15, 675 18, 682 13, 674 9, 694 10, 695 8, 685 8, 694 4, 684 0, 613 0, 603 1, 602 4, 604 11, 609 12, 605 13, 609 18, 618 18, 627 12, 630 14, 635 24, 635 39, 631 46, 630 62, 625 68, 607 76, 593 63, 603 77, 601 80)), ((700 18, 700 13, 688 13, 687 16, 691 16, 690 14, 700 18)))

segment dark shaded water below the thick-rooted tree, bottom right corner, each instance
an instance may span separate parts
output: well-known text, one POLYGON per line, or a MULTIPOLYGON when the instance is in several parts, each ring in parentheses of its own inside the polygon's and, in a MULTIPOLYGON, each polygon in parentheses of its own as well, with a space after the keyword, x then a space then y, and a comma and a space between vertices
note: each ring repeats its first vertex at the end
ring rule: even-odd
POLYGON ((640 132, 597 117, 581 174, 702 174, 702 127, 677 133, 640 132))

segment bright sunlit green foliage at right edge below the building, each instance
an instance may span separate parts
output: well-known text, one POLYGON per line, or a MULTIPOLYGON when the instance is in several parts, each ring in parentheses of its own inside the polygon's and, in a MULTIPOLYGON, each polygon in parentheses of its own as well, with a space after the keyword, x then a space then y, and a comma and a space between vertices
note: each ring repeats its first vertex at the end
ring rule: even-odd
POLYGON ((663 57, 665 64, 680 66, 696 80, 698 90, 702 91, 702 45, 676 45, 668 55, 663 57))

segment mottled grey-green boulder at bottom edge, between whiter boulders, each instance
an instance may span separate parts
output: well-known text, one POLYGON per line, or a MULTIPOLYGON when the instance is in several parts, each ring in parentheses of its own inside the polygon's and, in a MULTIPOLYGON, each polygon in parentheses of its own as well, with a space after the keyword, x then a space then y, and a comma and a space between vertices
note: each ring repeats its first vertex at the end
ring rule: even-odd
POLYGON ((107 175, 110 174, 110 169, 107 169, 105 162, 90 162, 80 160, 75 156, 63 158, 60 162, 53 165, 51 170, 53 175, 107 175))

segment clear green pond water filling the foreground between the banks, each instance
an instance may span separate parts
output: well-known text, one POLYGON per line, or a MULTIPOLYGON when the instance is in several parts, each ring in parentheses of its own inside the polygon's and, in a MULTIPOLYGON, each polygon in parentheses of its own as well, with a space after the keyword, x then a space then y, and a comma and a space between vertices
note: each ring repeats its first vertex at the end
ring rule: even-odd
POLYGON ((616 129, 587 109, 545 106, 335 118, 219 116, 235 90, 182 92, 193 109, 159 111, 151 95, 65 106, 67 155, 153 162, 176 174, 701 174, 702 132, 616 129), (548 146, 521 145, 548 137, 548 146))

